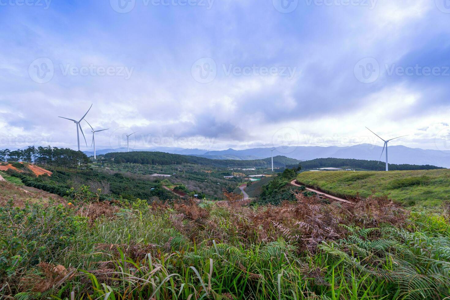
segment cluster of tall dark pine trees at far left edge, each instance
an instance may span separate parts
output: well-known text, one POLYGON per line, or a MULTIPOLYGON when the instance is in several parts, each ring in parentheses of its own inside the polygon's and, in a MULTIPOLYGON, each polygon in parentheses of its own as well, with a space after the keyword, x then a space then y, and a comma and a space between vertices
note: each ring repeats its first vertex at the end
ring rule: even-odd
POLYGON ((81 151, 69 148, 34 147, 23 150, 0 150, 0 161, 26 161, 41 166, 59 167, 63 169, 78 168, 89 163, 89 157, 81 151))

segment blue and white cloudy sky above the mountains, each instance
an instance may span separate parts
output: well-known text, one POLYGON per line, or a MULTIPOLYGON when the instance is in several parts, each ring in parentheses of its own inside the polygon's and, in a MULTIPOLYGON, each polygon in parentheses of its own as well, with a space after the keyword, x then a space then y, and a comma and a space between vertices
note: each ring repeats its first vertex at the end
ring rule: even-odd
POLYGON ((76 148, 58 116, 93 104, 98 148, 442 149, 449 25, 447 0, 0 0, 0 148, 76 148))

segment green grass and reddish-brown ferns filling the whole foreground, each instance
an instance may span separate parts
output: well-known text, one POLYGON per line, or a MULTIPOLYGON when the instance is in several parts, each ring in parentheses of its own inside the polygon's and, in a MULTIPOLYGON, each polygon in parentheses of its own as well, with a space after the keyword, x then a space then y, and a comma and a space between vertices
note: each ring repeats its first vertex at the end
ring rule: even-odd
POLYGON ((450 296, 446 209, 410 213, 377 197, 326 205, 301 193, 281 206, 148 206, 100 202, 88 187, 67 200, 0 208, 1 293, 158 300, 450 296))

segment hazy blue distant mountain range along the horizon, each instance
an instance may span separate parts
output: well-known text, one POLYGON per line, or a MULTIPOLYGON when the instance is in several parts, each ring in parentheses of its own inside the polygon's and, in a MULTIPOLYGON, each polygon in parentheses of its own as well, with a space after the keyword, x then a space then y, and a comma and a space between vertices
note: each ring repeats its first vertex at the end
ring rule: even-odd
MULTIPOLYGON (((286 156, 301 161, 309 161, 315 158, 353 158, 362 160, 378 160, 383 147, 371 144, 360 144, 349 147, 319 147, 299 146, 279 148, 274 151, 274 156, 286 156)), ((266 148, 252 148, 245 150, 234 150, 229 148, 222 151, 207 151, 202 149, 184 148, 154 148, 151 150, 133 151, 159 151, 172 154, 194 155, 210 159, 233 159, 233 160, 255 160, 270 156, 266 148)), ((97 154, 109 152, 126 152, 126 148, 98 150, 97 154)), ((88 156, 93 152, 85 152, 88 156)), ((384 154, 381 158, 384 161, 384 154)), ((450 168, 450 151, 424 150, 420 148, 409 148, 405 146, 389 146, 389 163, 411 164, 411 165, 433 165, 450 168)))

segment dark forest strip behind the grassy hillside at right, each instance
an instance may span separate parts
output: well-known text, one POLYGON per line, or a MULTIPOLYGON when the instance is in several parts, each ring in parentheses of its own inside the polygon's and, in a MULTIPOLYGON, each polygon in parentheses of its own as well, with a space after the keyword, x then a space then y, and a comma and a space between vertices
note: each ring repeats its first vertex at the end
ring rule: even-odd
MULTIPOLYGON (((386 164, 384 162, 378 163, 378 161, 365 161, 361 159, 347 159, 347 158, 317 158, 311 161, 302 161, 300 163, 303 170, 311 170, 315 168, 346 168, 346 169, 360 169, 360 170, 384 170, 386 164)), ((289 166, 287 166, 289 167, 289 166)), ((389 170, 400 171, 400 170, 433 170, 433 169, 444 169, 437 166, 431 165, 396 165, 389 164, 389 170)))

